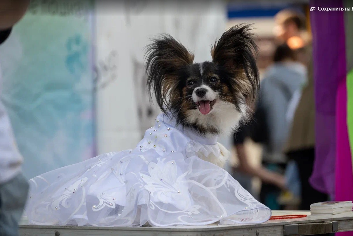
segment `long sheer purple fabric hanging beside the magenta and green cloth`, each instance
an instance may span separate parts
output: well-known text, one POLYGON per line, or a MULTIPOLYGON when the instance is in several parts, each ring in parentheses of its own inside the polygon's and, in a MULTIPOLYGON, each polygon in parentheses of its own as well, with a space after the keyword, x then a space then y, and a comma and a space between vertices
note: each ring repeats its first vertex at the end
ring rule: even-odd
MULTIPOLYGON (((311 0, 310 7, 342 7, 342 0, 311 0)), ((310 12, 316 107, 316 153, 311 185, 334 196, 336 94, 346 78, 343 11, 310 12)))

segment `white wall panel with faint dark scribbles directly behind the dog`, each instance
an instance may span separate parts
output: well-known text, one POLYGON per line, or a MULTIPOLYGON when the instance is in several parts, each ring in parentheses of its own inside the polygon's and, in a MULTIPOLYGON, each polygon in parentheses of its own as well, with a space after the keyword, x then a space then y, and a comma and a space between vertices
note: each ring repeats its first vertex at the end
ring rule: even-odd
POLYGON ((168 33, 195 52, 195 61, 211 60, 210 45, 226 28, 225 2, 181 2, 96 2, 97 65, 110 63, 100 78, 109 85, 97 90, 98 153, 135 147, 160 113, 146 93, 144 46, 150 38, 168 33))

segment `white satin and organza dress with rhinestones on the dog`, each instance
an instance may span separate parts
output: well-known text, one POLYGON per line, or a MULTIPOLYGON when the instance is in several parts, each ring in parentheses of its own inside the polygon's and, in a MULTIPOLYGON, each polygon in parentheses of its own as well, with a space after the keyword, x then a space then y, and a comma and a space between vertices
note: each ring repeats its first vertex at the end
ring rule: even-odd
POLYGON ((262 223, 271 216, 225 170, 206 139, 159 115, 136 148, 99 155, 29 181, 26 215, 39 225, 262 223))

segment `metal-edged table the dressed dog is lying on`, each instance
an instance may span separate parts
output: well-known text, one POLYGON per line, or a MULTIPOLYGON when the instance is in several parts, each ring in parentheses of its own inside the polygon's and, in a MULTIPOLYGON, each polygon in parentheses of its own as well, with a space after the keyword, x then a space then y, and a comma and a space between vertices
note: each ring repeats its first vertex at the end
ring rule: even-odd
POLYGON ((169 227, 95 227, 95 226, 38 226, 20 222, 20 236, 280 236, 308 235, 325 232, 353 231, 353 212, 334 216, 311 216, 309 211, 273 211, 273 216, 306 214, 305 218, 269 220, 252 225, 206 225, 169 227))

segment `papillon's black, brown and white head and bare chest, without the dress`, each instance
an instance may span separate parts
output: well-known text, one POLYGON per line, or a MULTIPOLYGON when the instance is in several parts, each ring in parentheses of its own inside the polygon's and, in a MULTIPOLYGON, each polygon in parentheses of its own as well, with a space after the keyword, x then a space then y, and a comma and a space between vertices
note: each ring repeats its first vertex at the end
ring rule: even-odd
MULTIPOLYGON (((146 47, 147 88, 163 113, 200 135, 229 134, 251 117, 259 89, 258 48, 250 25, 235 25, 211 47, 212 61, 194 63, 194 55, 168 34, 146 47)), ((225 163, 229 152, 221 145, 225 163)), ((208 158, 209 160, 209 158, 208 158)))

